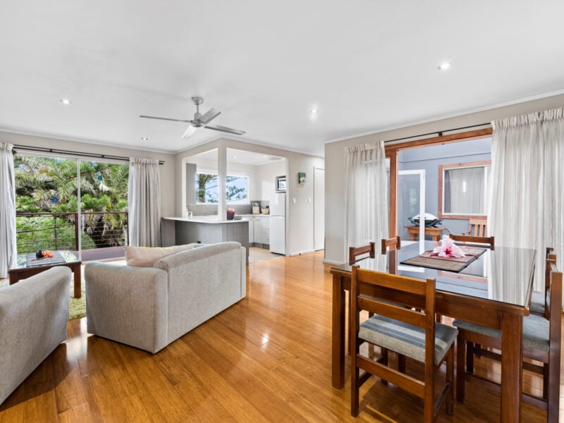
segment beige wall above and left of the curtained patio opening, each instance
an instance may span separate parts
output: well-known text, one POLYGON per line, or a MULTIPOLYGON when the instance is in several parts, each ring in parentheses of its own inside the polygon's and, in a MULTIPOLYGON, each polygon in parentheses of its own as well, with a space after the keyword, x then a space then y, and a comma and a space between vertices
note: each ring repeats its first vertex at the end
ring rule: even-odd
POLYGON ((347 257, 345 243, 345 147, 359 145, 364 142, 380 140, 393 140, 400 137, 414 137, 423 133, 432 133, 439 130, 461 128, 468 125, 479 125, 499 118, 515 116, 562 107, 564 94, 546 97, 498 107, 473 114, 457 116, 413 125, 382 133, 354 137, 348 140, 330 142, 325 145, 325 257, 326 262, 343 263, 347 257))

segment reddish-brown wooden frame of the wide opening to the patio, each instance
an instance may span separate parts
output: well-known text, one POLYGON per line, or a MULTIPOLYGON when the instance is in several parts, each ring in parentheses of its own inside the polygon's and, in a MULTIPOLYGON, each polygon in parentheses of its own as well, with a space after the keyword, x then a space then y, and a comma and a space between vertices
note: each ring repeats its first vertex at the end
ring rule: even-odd
POLYGON ((492 133, 494 133, 492 128, 485 128, 451 135, 442 135, 440 137, 425 138, 424 140, 398 142, 397 144, 384 146, 386 158, 390 159, 390 237, 398 235, 398 152, 417 147, 429 147, 431 145, 450 144, 451 142, 477 140, 479 138, 488 137, 492 133))

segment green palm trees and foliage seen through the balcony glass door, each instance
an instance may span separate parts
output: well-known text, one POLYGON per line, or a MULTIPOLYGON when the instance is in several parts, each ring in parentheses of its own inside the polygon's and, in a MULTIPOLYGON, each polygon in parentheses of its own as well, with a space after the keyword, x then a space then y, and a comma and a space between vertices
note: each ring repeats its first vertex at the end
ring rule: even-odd
MULTIPOLYGON (((78 212, 77 161, 16 155, 16 212, 73 213, 18 216, 18 252, 38 248, 75 249, 78 212)), ((125 245, 129 166, 80 161, 80 238, 82 250, 125 245), (92 212, 93 214, 87 214, 92 212)))

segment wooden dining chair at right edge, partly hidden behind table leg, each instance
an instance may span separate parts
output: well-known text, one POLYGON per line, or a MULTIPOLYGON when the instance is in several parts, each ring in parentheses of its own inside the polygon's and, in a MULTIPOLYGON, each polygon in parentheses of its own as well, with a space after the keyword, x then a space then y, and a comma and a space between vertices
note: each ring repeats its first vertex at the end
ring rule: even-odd
MULTIPOLYGON (((547 293, 546 317, 529 314, 523 318, 523 357, 543 363, 523 362, 523 369, 543 376, 542 398, 522 393, 522 400, 547 412, 547 422, 558 422, 558 400, 560 398, 560 337, 562 336, 562 272, 556 269, 553 260, 546 261, 550 288, 547 293)), ((474 374, 474 355, 501 360, 501 331, 455 319, 458 327, 456 398, 464 401, 465 379, 474 374), (481 345, 479 348, 476 344, 481 345), (489 349, 485 349, 489 348, 489 349), (478 350, 479 349, 479 350, 478 350), (466 356, 465 356, 466 355, 466 356), (465 369, 466 364, 466 369, 465 369)), ((503 351, 501 351, 503 354, 503 351)), ((479 379, 491 382, 488 379, 479 379)))

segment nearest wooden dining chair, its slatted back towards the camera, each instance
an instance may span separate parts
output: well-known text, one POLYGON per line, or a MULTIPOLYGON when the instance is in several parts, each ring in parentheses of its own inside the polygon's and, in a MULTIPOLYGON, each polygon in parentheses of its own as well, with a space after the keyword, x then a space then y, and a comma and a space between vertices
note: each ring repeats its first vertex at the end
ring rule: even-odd
POLYGON ((358 415, 360 386, 374 375, 422 398, 424 422, 433 422, 443 403, 447 414, 451 415, 457 331, 434 321, 435 280, 384 274, 362 270, 358 266, 353 266, 351 276, 350 414, 358 415), (370 296, 376 292, 378 297, 370 296), (362 310, 373 312, 374 316, 360 324, 362 310), (365 342, 379 346, 385 354, 376 359, 374 355, 360 354, 360 345, 365 342), (389 351, 398 354, 397 370, 388 366, 389 351), (405 372, 405 357, 423 364, 422 379, 405 372), (446 363, 446 378, 441 394, 435 400, 435 376, 443 362, 446 363), (360 369, 364 371, 362 374, 360 369))

